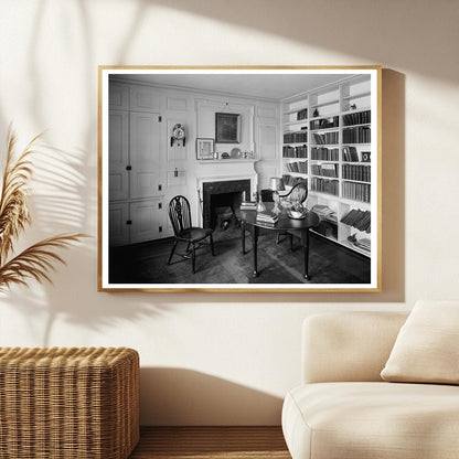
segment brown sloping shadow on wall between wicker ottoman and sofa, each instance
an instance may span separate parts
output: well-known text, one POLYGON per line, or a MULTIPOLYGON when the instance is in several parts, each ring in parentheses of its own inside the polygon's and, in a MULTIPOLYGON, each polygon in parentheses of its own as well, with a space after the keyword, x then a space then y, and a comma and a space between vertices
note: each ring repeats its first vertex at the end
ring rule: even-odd
POLYGON ((282 398, 186 369, 140 370, 140 424, 279 425, 282 398), (269 421, 267 421, 269 419, 269 421))

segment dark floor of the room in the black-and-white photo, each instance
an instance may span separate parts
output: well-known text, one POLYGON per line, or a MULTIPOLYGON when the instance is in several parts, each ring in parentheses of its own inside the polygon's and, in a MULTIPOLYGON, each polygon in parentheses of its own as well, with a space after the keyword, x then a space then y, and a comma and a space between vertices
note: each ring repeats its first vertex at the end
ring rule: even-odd
MULTIPOLYGON (((196 274, 191 261, 168 266, 172 239, 115 247, 109 253, 109 279, 113 284, 302 284, 303 256, 299 239, 297 249, 289 252, 288 241, 276 244, 275 232, 260 236, 258 242, 257 278, 252 277, 252 242, 247 235, 242 254, 241 232, 232 230, 215 232, 215 257, 209 247, 196 255, 196 274)), ((178 250, 184 250, 179 246, 178 250)), ((177 260, 178 257, 174 258, 177 260)), ((180 258, 179 258, 180 259, 180 258)), ((311 235, 308 284, 367 284, 370 258, 311 235)))

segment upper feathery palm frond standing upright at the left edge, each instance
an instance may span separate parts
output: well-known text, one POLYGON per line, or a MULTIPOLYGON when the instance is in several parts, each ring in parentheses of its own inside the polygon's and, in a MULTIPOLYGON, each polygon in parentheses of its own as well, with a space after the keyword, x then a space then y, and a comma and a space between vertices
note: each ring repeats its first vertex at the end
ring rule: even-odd
POLYGON ((28 180, 32 174, 29 154, 40 138, 35 136, 14 160, 15 134, 8 132, 7 161, 4 164, 2 189, 0 195, 0 261, 7 259, 13 249, 13 239, 31 223, 28 207, 28 180))

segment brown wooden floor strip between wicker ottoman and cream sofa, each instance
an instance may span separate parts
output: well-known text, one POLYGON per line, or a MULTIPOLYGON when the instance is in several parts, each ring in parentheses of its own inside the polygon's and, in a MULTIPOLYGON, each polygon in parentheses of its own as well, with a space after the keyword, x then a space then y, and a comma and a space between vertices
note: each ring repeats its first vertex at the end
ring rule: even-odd
POLYGON ((280 427, 141 427, 129 459, 291 459, 280 427))

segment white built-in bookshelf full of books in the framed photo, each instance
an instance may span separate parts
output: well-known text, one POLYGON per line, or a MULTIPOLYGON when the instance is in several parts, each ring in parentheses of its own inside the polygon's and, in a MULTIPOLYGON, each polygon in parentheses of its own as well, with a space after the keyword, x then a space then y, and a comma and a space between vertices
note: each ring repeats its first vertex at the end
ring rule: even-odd
POLYGON ((282 177, 308 183, 314 231, 370 256, 372 119, 370 75, 350 76, 281 103, 282 177))

